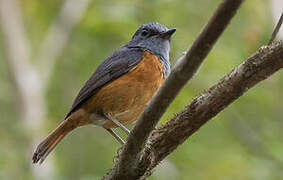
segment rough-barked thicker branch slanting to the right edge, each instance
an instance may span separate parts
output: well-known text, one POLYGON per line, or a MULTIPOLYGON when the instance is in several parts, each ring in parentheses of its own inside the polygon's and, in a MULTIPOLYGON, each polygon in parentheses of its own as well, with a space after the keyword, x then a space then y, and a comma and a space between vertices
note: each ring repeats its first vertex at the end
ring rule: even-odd
POLYGON ((283 42, 260 48, 254 55, 224 76, 216 85, 195 98, 166 125, 151 134, 139 162, 150 161, 150 172, 162 159, 188 139, 208 120, 257 83, 283 68, 283 42), (149 159, 150 157, 150 159, 149 159))

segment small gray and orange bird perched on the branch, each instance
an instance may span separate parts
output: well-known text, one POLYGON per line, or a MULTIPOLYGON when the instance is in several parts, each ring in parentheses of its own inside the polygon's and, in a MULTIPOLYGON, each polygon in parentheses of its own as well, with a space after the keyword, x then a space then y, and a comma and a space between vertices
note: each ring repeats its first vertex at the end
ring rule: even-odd
POLYGON ((41 164, 72 130, 95 125, 113 130, 135 122, 170 73, 170 41, 175 28, 142 24, 131 40, 106 58, 79 91, 64 120, 36 148, 32 161, 41 164))

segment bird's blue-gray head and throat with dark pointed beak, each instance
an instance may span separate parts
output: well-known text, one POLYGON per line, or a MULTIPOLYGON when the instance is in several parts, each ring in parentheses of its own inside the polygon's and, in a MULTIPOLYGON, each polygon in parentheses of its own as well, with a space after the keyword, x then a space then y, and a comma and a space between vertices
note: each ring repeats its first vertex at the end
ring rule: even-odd
POLYGON ((126 46, 129 48, 149 50, 158 56, 164 65, 165 75, 167 76, 170 72, 170 38, 175 31, 175 28, 168 29, 156 22, 143 24, 126 46))

